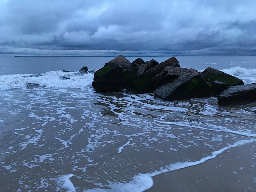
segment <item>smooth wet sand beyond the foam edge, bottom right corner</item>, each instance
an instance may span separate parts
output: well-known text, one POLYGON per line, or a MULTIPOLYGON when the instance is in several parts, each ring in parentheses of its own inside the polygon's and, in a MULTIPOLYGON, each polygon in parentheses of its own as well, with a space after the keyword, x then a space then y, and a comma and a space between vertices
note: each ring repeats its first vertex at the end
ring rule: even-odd
POLYGON ((203 164, 153 177, 147 192, 256 191, 256 142, 228 149, 203 164))

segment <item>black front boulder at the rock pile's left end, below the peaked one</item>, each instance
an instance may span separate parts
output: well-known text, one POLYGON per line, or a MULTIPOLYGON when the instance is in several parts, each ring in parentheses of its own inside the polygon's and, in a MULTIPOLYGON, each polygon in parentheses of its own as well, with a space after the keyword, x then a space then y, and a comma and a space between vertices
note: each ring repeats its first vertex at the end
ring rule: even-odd
POLYGON ((119 92, 125 86, 126 80, 121 66, 109 70, 92 82, 92 87, 97 92, 119 92))

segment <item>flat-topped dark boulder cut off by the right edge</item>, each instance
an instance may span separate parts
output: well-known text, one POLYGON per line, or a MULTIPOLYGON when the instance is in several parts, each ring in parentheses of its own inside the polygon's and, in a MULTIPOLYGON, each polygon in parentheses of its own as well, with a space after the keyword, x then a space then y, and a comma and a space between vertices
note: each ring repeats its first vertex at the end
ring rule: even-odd
POLYGON ((230 86, 217 96, 219 106, 256 102, 256 84, 230 86))

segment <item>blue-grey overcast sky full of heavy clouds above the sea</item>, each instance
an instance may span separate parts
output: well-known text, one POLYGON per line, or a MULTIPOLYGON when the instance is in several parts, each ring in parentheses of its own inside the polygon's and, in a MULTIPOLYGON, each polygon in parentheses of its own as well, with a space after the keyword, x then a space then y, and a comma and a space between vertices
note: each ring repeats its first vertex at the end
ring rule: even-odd
POLYGON ((256 0, 0 0, 0 54, 256 55, 256 0))

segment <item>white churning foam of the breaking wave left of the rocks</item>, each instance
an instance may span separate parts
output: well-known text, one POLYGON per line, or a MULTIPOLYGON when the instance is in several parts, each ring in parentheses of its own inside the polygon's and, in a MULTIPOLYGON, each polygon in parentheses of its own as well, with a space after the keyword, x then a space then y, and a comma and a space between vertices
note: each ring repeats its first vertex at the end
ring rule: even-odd
POLYGON ((41 76, 34 75, 3 75, 0 78, 0 90, 26 88, 28 85, 45 86, 50 88, 84 88, 91 85, 94 74, 79 72, 65 73, 50 71, 41 76), (62 76, 70 79, 61 79, 62 76))

